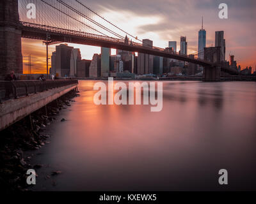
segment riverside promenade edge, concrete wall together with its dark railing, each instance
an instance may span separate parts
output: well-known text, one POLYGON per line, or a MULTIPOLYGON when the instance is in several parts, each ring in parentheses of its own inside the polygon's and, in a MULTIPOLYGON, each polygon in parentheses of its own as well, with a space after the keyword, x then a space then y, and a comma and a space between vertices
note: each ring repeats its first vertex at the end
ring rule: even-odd
POLYGON ((0 131, 77 89, 77 80, 0 81, 0 131))

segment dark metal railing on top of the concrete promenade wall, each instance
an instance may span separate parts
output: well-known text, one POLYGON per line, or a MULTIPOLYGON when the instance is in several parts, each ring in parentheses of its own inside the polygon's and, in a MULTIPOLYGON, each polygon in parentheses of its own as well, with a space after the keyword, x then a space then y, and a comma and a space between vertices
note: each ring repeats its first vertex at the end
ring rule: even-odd
POLYGON ((72 84, 78 84, 78 81, 74 79, 45 81, 22 80, 13 82, 0 81, 0 102, 72 84))

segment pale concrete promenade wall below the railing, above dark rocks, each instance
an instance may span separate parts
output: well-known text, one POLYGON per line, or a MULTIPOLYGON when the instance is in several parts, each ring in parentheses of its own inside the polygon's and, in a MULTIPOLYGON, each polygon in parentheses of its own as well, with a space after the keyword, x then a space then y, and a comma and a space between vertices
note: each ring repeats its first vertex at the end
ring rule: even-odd
POLYGON ((72 84, 38 92, 31 96, 4 101, 0 104, 0 131, 48 103, 51 103, 55 99, 60 98, 60 96, 63 96, 76 87, 77 84, 72 84))

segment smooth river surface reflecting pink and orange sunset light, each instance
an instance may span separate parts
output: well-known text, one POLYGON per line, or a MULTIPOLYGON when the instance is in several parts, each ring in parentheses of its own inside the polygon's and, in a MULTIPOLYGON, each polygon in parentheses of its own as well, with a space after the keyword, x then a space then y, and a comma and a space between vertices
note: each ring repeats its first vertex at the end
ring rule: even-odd
POLYGON ((95 105, 95 82, 80 81, 67 121, 51 126, 34 160, 51 168, 38 170, 35 190, 223 190, 221 168, 225 189, 256 189, 255 83, 163 82, 163 110, 150 112, 95 105), (44 179, 51 170, 63 171, 57 186, 44 179))

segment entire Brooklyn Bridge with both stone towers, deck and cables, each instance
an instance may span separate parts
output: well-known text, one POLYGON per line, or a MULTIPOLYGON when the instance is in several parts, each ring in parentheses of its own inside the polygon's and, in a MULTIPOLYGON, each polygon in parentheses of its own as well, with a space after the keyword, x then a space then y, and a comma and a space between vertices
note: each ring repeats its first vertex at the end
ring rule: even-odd
POLYGON ((204 67, 205 81, 220 80, 221 71, 238 74, 234 69, 221 66, 218 49, 210 54, 209 59, 202 60, 164 48, 145 46, 138 37, 101 17, 81 1, 37 0, 35 3, 35 18, 28 18, 26 6, 29 2, 26 0, 0 3, 0 43, 4 45, 0 50, 1 78, 10 70, 22 73, 21 38, 42 40, 47 46, 77 43, 191 62, 204 67))

